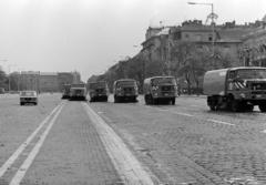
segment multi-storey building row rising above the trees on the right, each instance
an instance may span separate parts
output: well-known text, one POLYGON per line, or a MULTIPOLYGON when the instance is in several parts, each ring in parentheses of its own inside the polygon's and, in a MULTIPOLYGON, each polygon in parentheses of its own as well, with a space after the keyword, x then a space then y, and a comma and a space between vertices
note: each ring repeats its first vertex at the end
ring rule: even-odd
POLYGON ((185 21, 180 27, 149 27, 142 51, 135 58, 173 60, 171 45, 192 41, 212 52, 212 43, 234 59, 233 65, 266 66, 266 16, 262 21, 236 24, 204 25, 200 20, 185 21), (214 32, 214 34, 213 34, 214 32))

